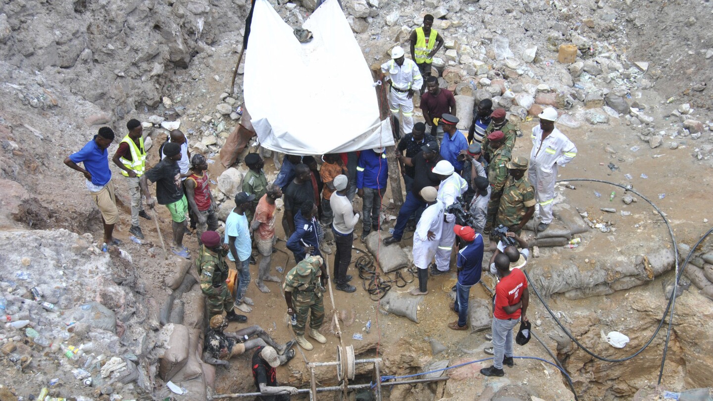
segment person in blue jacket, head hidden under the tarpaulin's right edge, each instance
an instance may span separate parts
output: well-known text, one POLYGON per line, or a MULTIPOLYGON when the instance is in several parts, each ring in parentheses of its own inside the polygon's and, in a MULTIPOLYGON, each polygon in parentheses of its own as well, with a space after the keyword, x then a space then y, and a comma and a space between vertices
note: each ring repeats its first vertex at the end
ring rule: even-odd
POLYGON ((361 242, 366 240, 371 230, 379 230, 381 198, 384 198, 389 179, 389 163, 384 151, 386 148, 361 151, 356 163, 356 194, 364 199, 361 206, 361 242))

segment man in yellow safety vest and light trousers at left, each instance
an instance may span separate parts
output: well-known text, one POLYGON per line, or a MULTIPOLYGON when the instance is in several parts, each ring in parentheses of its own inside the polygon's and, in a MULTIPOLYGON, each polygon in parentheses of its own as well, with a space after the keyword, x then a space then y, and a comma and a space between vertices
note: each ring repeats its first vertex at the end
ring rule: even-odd
POLYGON ((119 143, 114 157, 111 159, 121 169, 121 174, 126 177, 129 195, 131 196, 131 228, 129 233, 136 238, 143 239, 143 233, 138 225, 139 216, 151 220, 143 210, 141 202, 141 188, 138 185, 140 176, 143 176, 146 165, 146 150, 143 147, 143 127, 140 121, 130 119, 126 123, 129 133, 119 143))

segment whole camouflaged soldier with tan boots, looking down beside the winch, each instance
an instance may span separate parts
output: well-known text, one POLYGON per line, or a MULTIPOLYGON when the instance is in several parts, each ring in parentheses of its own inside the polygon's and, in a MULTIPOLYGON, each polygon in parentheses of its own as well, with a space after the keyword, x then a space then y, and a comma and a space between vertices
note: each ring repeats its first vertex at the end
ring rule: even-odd
POLYGON ((287 314, 297 315, 297 323, 292 325, 292 330, 297 339, 297 344, 305 350, 314 347, 304 338, 309 320, 309 336, 322 344, 327 343, 324 335, 319 334, 319 328, 324 322, 324 286, 327 285, 327 268, 321 256, 309 256, 297 263, 289 270, 284 278, 284 300, 287 301, 287 314))

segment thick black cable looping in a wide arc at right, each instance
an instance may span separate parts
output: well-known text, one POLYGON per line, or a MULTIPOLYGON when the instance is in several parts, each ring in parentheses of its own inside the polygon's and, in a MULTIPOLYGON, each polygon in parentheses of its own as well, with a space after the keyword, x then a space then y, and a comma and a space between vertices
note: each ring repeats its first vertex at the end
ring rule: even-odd
MULTIPOLYGON (((622 186, 622 185, 620 185, 620 184, 612 183, 612 182, 609 182, 609 181, 595 180, 595 179, 593 179, 593 178, 571 178, 571 179, 568 179, 568 180, 558 180, 558 181, 556 181, 556 182, 559 183, 559 182, 562 182, 562 181, 592 181, 592 182, 595 182, 595 183, 610 184, 610 185, 612 185, 612 186, 617 186, 617 187, 619 187, 619 188, 623 188, 623 189, 625 189, 625 190, 627 190, 627 191, 630 191, 630 192, 632 192, 632 193, 635 193, 637 196, 640 196, 643 200, 646 200, 647 203, 649 203, 650 205, 652 205, 652 207, 657 211, 657 213, 659 213, 659 215, 661 215, 661 218, 664 219, 664 223, 666 223, 666 226, 667 226, 667 228, 668 228, 668 230, 669 230, 669 234, 670 234, 670 236, 671 236, 671 240, 673 241, 673 246, 674 246, 674 260, 675 260, 674 263, 675 263, 675 267, 676 267, 676 270, 677 270, 676 284, 678 284, 678 279, 680 278, 680 275, 683 273, 683 270, 679 270, 679 263, 678 263, 678 260, 679 260, 679 253, 678 253, 678 245, 677 245, 677 243, 676 243, 676 238, 674 237, 673 229, 671 228, 671 225, 670 225, 668 219, 666 218, 666 215, 661 211, 660 208, 658 208, 656 205, 654 205, 654 203, 652 203, 651 200, 649 200, 648 198, 646 198, 646 197, 643 196, 642 194, 638 193, 638 192, 635 191, 633 188, 627 188, 627 187, 622 186)), ((528 275, 527 271, 523 270, 523 273, 525 273, 525 277, 528 279, 529 282, 534 283, 534 281, 530 279, 530 275, 528 275)), ((562 322, 560 322, 560 320, 557 318, 557 316, 555 316, 555 313, 553 313, 553 311, 550 309, 550 306, 549 306, 547 303, 545 303, 545 300, 542 298, 542 295, 540 295, 540 292, 538 291, 537 286, 532 285, 531 287, 533 288, 533 290, 534 290, 534 292, 535 292, 535 295, 537 295, 537 298, 540 300, 540 303, 542 303, 542 304, 545 306, 545 309, 548 311, 548 313, 550 313, 550 316, 552 316, 552 318, 555 320, 555 323, 557 323, 557 325, 560 326, 560 328, 565 332, 565 334, 566 334, 568 337, 570 337, 570 340, 573 340, 573 342, 575 342, 575 344, 576 344, 578 347, 580 347, 584 352, 587 352, 587 353, 588 353, 589 355, 591 355, 592 357, 595 357, 595 358, 598 359, 598 360, 603 360, 603 361, 605 361, 605 362, 624 362, 624 361, 626 361, 626 360, 630 360, 630 359, 632 359, 633 357, 639 355, 641 352, 643 352, 643 350, 645 350, 649 345, 651 345, 651 342, 653 342, 654 338, 658 335, 659 331, 661 330, 661 328, 662 328, 662 326, 663 326, 663 324, 664 324, 664 322, 665 322, 665 320, 666 320, 666 315, 668 315, 669 310, 671 310, 671 314, 673 315, 673 310, 671 309, 671 305, 672 305, 673 300, 674 300, 675 297, 672 297, 672 298, 669 300, 668 304, 666 305, 666 310, 664 311, 664 315, 662 316, 661 321, 660 321, 658 327, 656 328, 654 334, 653 334, 653 335, 651 336, 651 338, 646 342, 646 344, 645 344, 643 347, 641 347, 640 350, 638 350, 637 352, 634 352, 632 355, 629 355, 629 356, 624 357, 624 358, 610 359, 610 358, 607 358, 607 357, 601 357, 601 356, 599 356, 599 355, 596 355, 594 352, 588 350, 587 347, 585 347, 584 345, 582 345, 582 344, 572 335, 572 333, 570 333, 570 331, 565 328, 565 326, 562 324, 562 322)))

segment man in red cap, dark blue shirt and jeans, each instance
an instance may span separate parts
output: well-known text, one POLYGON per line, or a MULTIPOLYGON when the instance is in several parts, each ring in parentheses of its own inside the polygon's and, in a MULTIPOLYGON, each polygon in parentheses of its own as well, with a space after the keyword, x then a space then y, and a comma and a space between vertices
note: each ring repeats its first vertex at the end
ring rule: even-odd
POLYGON ((483 235, 476 233, 471 227, 456 225, 453 227, 456 235, 466 241, 466 245, 458 251, 456 265, 458 266, 458 282, 456 283, 456 302, 451 303, 451 310, 458 313, 458 320, 448 323, 453 330, 466 330, 468 318, 468 297, 471 287, 478 284, 483 274, 483 235))

